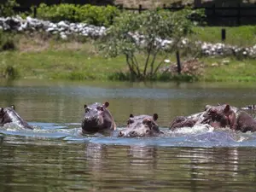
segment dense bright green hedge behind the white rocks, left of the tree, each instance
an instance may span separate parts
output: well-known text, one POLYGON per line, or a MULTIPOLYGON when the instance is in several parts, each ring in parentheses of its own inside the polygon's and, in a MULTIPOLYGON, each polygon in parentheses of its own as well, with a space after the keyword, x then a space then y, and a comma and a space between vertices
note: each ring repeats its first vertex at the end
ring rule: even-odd
POLYGON ((52 21, 86 22, 95 26, 109 26, 115 15, 119 15, 119 9, 110 5, 104 7, 61 3, 48 6, 41 3, 38 7, 38 18, 52 21))

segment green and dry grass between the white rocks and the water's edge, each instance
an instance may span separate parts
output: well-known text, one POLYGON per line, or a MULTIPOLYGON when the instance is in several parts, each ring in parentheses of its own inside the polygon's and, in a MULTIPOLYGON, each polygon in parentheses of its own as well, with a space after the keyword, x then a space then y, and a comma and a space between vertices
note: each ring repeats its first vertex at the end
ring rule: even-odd
MULTIPOLYGON (((70 80, 129 80, 125 57, 105 58, 90 39, 72 38, 63 41, 46 34, 14 36, 15 50, 0 52, 0 78, 9 79, 70 79, 70 80), (54 68, 54 70, 52 70, 54 68)), ((144 55, 137 60, 143 61, 144 55)), ((175 65, 175 55, 168 59, 175 65)), ((181 58, 185 61, 185 57, 181 58)), ((204 64, 198 76, 157 73, 160 81, 256 81, 256 61, 235 58, 199 59, 204 64), (224 62, 228 61, 228 62, 224 62), (214 64, 214 65, 213 65, 214 64)), ((164 63, 163 67, 170 66, 164 63)))

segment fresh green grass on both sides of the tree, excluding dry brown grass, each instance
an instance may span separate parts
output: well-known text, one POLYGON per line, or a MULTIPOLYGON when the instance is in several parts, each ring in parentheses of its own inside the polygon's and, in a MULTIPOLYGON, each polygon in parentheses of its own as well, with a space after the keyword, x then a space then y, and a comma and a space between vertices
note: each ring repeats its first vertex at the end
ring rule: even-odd
MULTIPOLYGON (((99 55, 89 57, 80 51, 46 50, 40 53, 20 53, 18 51, 6 51, 0 54, 1 67, 11 66, 15 68, 20 79, 70 79, 84 80, 97 79, 108 80, 114 74, 125 71, 125 58, 118 57, 106 59, 99 55)), ((172 58, 174 61, 174 58, 172 58)), ((206 64, 205 73, 200 81, 225 81, 225 82, 255 82, 256 61, 236 61, 232 58, 213 59, 201 58, 206 64), (229 60, 229 64, 220 67, 212 67, 212 63, 229 60)), ((117 80, 119 77, 113 78, 117 80)), ((125 78, 119 80, 127 80, 125 78)), ((191 80, 183 78, 158 80, 191 80)))

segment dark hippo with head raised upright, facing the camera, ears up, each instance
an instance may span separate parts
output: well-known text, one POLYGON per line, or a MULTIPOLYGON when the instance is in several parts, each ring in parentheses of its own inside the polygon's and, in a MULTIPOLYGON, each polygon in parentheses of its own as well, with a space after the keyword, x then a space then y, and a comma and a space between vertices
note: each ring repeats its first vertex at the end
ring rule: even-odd
POLYGON ((108 110, 109 102, 104 104, 95 102, 87 106, 84 104, 84 118, 82 119, 82 133, 96 133, 114 131, 116 129, 112 114, 108 110))

